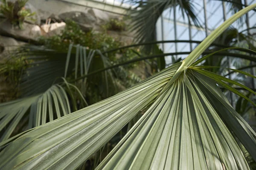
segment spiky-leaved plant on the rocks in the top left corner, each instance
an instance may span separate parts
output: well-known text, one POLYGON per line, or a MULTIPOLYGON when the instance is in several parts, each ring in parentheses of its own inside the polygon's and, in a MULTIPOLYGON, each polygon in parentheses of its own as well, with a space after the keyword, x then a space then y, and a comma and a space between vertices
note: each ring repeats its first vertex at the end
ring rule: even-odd
POLYGON ((25 19, 33 20, 29 17, 35 15, 35 12, 31 13, 24 7, 27 2, 28 0, 16 0, 15 2, 1 0, 0 14, 3 14, 13 25, 23 28, 25 19))

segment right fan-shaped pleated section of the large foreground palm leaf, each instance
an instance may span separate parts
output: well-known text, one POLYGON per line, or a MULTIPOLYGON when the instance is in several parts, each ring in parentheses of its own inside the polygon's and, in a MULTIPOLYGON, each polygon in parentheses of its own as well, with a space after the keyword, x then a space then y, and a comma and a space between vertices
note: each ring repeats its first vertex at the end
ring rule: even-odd
POLYGON ((256 147, 256 133, 215 82, 187 71, 97 169, 250 169, 234 134, 256 147))

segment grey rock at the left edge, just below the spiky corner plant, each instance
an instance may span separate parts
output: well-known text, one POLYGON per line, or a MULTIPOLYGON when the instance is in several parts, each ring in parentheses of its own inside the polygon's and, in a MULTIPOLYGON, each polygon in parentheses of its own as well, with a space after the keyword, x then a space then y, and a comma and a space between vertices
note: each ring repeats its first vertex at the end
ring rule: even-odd
POLYGON ((41 28, 37 25, 23 23, 23 29, 12 26, 7 20, 0 20, 0 34, 14 37, 17 40, 37 41, 41 36, 41 28))

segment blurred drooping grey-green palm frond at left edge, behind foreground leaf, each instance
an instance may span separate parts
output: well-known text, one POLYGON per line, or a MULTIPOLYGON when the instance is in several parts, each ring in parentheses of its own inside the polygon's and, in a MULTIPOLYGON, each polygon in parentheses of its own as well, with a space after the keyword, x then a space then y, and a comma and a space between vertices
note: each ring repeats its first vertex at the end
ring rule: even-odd
POLYGON ((42 94, 2 103, 0 104, 0 141, 69 113, 71 109, 68 93, 61 85, 52 85, 42 94))

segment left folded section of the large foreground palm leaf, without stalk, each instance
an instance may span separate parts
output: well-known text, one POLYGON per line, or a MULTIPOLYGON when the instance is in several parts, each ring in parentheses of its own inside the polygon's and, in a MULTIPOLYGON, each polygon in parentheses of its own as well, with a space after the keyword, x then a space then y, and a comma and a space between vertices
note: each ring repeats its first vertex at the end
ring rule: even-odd
POLYGON ((1 160, 4 160, 0 169, 8 169, 14 164, 16 168, 28 169, 79 167, 140 110, 154 102, 179 66, 177 63, 116 96, 25 133, 0 153, 1 160), (35 146, 37 149, 29 149, 35 146), (11 151, 13 149, 15 154, 11 151))

